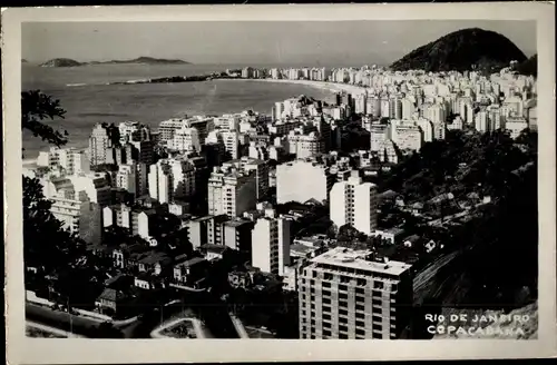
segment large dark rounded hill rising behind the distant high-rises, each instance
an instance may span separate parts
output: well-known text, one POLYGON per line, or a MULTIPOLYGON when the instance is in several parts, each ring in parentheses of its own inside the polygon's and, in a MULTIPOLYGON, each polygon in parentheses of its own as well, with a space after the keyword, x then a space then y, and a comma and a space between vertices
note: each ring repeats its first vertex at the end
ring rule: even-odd
POLYGON ((455 31, 414 49, 391 65, 398 71, 496 71, 510 61, 524 62, 525 53, 507 37, 495 31, 468 28, 455 31))

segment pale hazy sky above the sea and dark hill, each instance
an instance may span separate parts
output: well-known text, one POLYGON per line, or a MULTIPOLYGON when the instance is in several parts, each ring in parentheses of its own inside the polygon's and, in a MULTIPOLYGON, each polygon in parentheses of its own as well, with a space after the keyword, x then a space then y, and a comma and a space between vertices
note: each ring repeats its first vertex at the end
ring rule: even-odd
POLYGON ((451 31, 499 32, 527 57, 536 22, 509 20, 363 20, 237 22, 32 22, 21 29, 30 62, 177 58, 198 65, 388 65, 451 31))

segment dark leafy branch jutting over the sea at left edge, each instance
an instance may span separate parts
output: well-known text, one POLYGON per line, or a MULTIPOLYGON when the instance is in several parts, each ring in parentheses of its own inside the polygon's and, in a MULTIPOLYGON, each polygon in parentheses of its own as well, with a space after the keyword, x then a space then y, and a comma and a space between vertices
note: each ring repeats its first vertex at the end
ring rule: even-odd
POLYGON ((45 119, 53 120, 63 118, 66 110, 60 107, 60 101, 39 90, 21 92, 21 129, 27 129, 35 137, 40 137, 57 147, 68 142, 68 131, 58 131, 43 122, 45 119))

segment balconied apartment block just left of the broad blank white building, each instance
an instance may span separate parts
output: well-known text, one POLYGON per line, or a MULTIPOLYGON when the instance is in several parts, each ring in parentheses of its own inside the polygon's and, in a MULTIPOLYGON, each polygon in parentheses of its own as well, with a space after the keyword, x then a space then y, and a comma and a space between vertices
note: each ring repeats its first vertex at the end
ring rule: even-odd
POLYGON ((215 167, 208 179, 208 214, 237 217, 257 203, 255 171, 215 167))

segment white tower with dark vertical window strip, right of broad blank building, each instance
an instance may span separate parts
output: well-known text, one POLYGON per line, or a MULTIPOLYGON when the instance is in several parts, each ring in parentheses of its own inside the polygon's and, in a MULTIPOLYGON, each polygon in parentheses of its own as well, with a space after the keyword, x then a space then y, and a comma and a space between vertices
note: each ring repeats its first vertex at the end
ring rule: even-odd
POLYGON ((378 220, 375 185, 363 182, 359 171, 352 171, 346 181, 334 184, 330 197, 330 216, 336 227, 350 225, 365 235, 375 229, 378 220))

